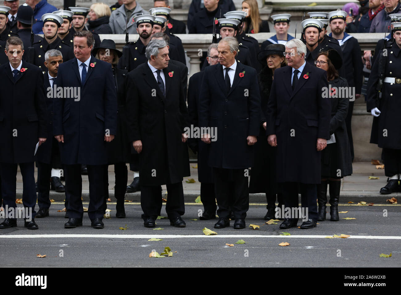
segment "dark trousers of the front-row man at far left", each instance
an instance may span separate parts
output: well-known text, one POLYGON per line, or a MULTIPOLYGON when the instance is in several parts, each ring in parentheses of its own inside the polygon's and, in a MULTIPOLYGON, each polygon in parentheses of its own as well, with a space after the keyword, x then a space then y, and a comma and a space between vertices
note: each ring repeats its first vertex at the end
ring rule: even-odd
MULTIPOLYGON (((34 176, 34 162, 20 163, 20 171, 22 175, 23 191, 22 191, 22 204, 24 208, 32 208, 32 218, 35 217, 36 205, 36 189, 35 189, 35 176, 34 176)), ((1 163, 0 174, 2 175, 2 197, 4 209, 6 205, 8 208, 16 208, 16 184, 17 184, 17 168, 18 164, 14 163, 1 163)))

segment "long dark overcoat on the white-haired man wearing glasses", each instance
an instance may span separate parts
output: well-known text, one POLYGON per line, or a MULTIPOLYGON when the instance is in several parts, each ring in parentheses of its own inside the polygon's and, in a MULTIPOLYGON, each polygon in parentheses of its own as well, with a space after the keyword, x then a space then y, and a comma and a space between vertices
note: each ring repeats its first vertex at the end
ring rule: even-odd
POLYGON ((277 136, 277 182, 320 183, 318 138, 330 138, 330 98, 326 71, 306 62, 295 90, 292 67, 274 71, 267 102, 266 134, 277 136), (308 78, 304 75, 308 73, 308 78))

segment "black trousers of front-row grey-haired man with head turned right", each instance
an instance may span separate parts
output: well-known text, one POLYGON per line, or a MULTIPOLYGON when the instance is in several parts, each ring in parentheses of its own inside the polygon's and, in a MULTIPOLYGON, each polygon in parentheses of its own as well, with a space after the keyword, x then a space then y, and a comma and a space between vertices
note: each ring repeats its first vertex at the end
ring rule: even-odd
MULTIPOLYGON (((182 182, 167 184, 166 212, 170 220, 184 215, 184 191, 182 182)), ((162 210, 162 192, 160 185, 141 185, 142 218, 157 218, 162 210)))

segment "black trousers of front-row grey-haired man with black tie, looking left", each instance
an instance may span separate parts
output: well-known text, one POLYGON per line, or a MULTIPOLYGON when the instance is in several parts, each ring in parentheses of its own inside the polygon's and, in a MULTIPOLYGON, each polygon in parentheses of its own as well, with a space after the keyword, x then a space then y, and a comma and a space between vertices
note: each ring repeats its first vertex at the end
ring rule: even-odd
POLYGON ((213 174, 219 218, 229 218, 232 211, 235 219, 245 219, 249 210, 249 188, 244 169, 213 167, 213 174))

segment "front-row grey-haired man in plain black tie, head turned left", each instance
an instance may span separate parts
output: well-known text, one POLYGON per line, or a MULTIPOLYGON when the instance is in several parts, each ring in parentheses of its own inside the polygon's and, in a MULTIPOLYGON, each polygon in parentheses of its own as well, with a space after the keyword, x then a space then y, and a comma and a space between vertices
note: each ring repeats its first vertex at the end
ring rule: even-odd
POLYGON ((259 134, 257 73, 254 68, 237 63, 238 46, 235 37, 221 39, 217 49, 220 63, 206 67, 199 94, 199 126, 207 128, 201 131, 202 141, 210 144, 209 165, 213 167, 219 205, 215 228, 230 225, 231 211, 234 228, 245 228, 248 169, 253 166, 253 145, 259 134))

